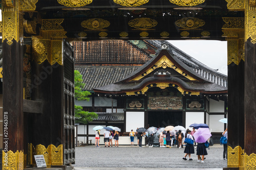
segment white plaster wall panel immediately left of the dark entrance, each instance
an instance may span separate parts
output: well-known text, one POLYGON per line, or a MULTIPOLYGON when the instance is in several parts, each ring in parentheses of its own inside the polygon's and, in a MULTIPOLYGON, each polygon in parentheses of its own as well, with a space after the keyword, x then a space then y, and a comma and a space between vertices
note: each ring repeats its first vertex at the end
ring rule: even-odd
POLYGON ((126 112, 126 132, 144 127, 144 112, 126 112))

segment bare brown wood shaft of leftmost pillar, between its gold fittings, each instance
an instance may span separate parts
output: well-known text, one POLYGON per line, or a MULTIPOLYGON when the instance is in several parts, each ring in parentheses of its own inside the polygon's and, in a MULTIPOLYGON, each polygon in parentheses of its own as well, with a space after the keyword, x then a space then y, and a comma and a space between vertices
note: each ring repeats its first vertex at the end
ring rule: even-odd
POLYGON ((3 112, 3 115, 8 115, 8 129, 4 131, 3 137, 4 141, 6 141, 5 138, 9 138, 7 150, 22 151, 24 141, 23 46, 14 39, 11 45, 7 44, 7 40, 3 41, 3 112), (8 136, 5 136, 6 133, 8 136))

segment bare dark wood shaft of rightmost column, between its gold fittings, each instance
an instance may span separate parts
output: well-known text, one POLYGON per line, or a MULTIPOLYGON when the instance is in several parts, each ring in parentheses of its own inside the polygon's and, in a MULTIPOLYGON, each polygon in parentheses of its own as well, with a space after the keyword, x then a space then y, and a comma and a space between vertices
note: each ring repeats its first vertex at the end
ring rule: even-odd
MULTIPOLYGON (((250 38, 245 42, 245 86, 244 86, 244 115, 245 115, 245 153, 250 155, 256 153, 256 44, 250 42, 250 38)), ((229 116, 228 116, 229 117, 229 116)), ((229 125, 228 125, 229 126, 229 125)))

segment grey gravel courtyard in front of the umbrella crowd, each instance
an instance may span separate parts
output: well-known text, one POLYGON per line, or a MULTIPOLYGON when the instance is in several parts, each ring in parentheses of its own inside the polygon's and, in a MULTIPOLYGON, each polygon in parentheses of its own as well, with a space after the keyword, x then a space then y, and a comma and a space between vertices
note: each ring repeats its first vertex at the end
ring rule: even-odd
MULTIPOLYGON (((223 168, 227 167, 227 160, 223 160, 223 147, 210 146, 205 163, 197 162, 195 154, 192 161, 183 160, 184 148, 139 148, 137 146, 118 148, 76 147, 75 167, 158 167, 158 168, 223 168)), ((187 156, 188 159, 188 156, 187 156)))

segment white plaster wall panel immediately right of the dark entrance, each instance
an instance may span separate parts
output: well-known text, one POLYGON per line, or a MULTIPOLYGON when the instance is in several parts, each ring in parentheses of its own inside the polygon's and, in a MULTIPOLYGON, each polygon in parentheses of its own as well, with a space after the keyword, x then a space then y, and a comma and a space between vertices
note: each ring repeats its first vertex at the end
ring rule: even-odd
POLYGON ((204 112, 186 112, 186 129, 189 128, 191 124, 203 124, 204 123, 204 112))

